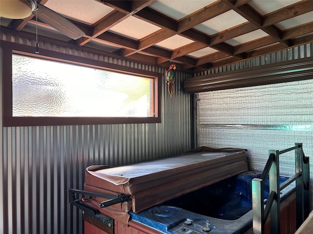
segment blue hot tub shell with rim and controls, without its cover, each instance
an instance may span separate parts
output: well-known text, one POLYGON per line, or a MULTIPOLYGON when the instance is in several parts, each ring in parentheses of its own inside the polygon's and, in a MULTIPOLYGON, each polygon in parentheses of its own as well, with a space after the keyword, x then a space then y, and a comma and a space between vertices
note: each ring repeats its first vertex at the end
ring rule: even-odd
MULTIPOLYGON (((252 228, 251 181, 260 176, 261 173, 247 171, 138 214, 130 212, 131 219, 166 234, 245 234, 252 228)), ((288 178, 281 176, 280 183, 288 178)), ((284 189, 281 202, 293 193, 293 185, 284 189)), ((264 198, 268 196, 267 179, 264 198)))

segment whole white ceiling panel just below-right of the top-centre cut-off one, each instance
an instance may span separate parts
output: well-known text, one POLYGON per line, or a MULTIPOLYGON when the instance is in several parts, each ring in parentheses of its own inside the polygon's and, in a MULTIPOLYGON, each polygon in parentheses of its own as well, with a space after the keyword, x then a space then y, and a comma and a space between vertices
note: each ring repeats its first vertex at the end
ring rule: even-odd
POLYGON ((207 35, 213 35, 224 31, 228 28, 234 27, 247 20, 233 10, 227 11, 211 20, 207 20, 194 28, 207 35))

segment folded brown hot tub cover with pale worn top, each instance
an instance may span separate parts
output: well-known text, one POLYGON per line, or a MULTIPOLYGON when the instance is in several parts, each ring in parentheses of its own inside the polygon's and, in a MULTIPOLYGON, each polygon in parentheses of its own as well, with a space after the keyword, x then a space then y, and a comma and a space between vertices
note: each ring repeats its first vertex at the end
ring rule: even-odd
POLYGON ((138 213, 163 201, 198 190, 247 171, 244 149, 200 147, 182 155, 120 167, 89 166, 84 190, 107 195, 127 194, 131 200, 99 208, 104 198, 87 203, 127 224, 130 211, 138 213))

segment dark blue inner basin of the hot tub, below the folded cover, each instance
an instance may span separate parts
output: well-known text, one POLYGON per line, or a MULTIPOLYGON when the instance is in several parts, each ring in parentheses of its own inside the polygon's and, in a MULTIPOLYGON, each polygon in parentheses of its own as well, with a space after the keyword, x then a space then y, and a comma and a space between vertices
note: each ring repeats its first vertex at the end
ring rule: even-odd
MULTIPOLYGON (((209 217, 235 220, 252 210, 252 179, 260 177, 261 173, 242 173, 171 199, 161 205, 175 206, 209 217)), ((281 176, 280 183, 283 183, 288 178, 281 176)), ((268 179, 265 181, 264 188, 264 198, 268 199, 268 179)))

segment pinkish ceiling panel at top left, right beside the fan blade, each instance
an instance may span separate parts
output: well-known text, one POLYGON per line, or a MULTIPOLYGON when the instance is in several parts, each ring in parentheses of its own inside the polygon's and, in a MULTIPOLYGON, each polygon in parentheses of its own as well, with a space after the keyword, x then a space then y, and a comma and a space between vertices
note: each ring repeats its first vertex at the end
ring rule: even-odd
POLYGON ((95 0, 63 0, 62 4, 60 0, 48 0, 45 6, 68 19, 88 25, 92 25, 113 10, 95 0))

